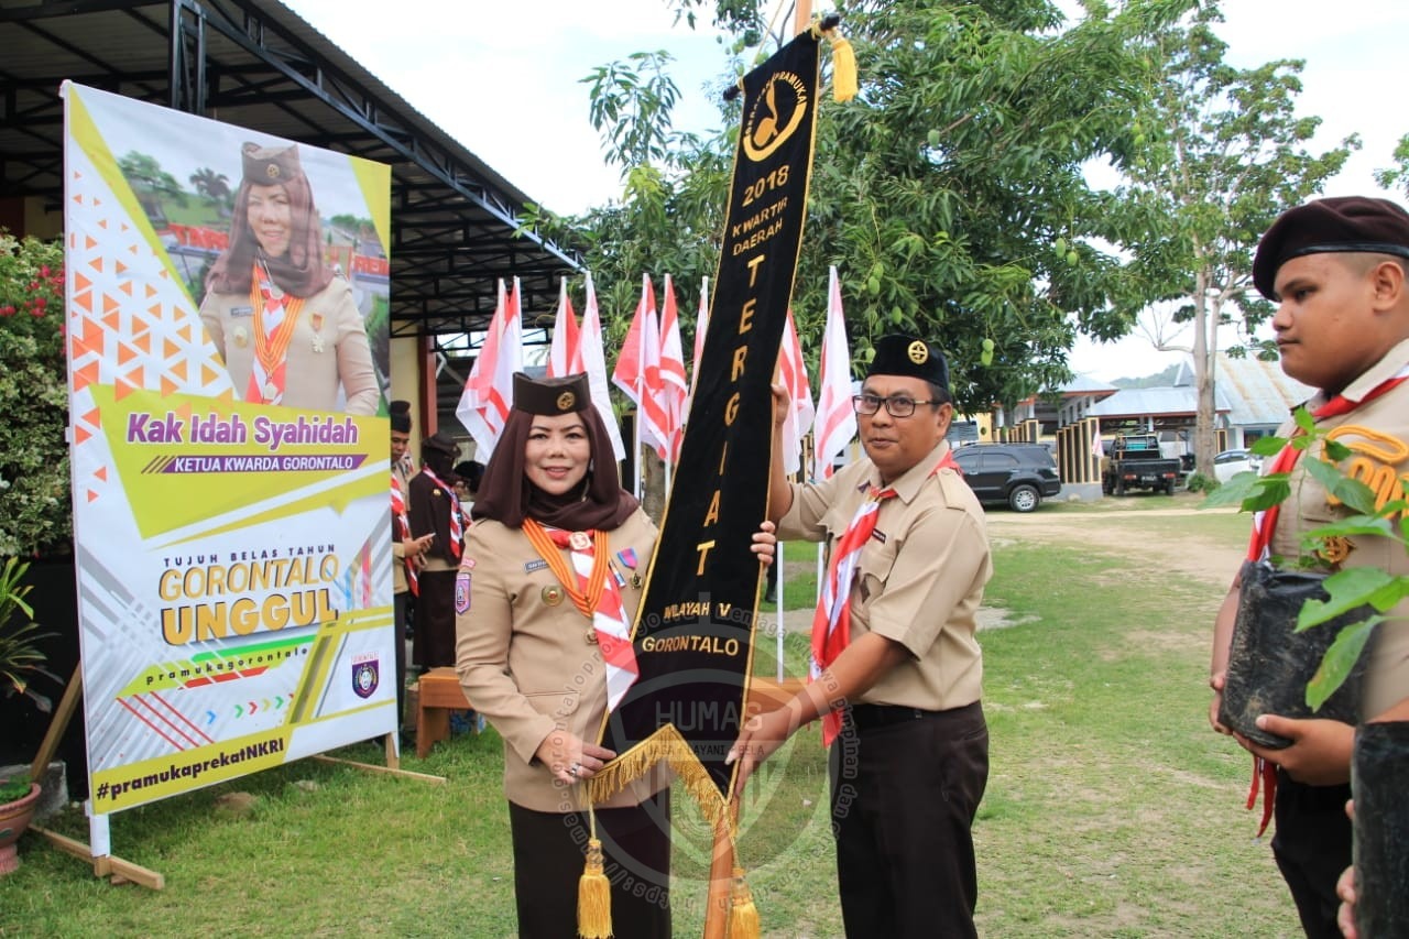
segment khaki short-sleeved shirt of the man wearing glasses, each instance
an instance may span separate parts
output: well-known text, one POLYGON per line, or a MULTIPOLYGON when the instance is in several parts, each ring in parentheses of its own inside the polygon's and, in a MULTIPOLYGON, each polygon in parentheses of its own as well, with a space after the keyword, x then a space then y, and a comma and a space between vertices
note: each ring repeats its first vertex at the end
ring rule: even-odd
MULTIPOLYGON (((954 470, 931 471, 947 443, 892 485, 851 584, 851 642, 868 632, 900 643, 910 658, 865 694, 867 704, 948 711, 982 694, 983 658, 974 616, 993 574, 983 509, 954 470)), ((834 550, 881 474, 869 460, 831 479, 793 486, 781 540, 827 540, 834 550)))

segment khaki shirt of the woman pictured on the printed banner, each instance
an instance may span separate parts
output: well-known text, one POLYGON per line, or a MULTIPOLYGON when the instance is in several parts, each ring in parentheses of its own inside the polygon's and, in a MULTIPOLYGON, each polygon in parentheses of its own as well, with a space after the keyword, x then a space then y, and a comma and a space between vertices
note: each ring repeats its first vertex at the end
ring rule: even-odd
MULTIPOLYGON (((200 320, 225 360, 235 396, 245 399, 255 361, 255 316, 248 293, 207 293, 200 320)), ((375 415, 380 403, 372 350, 352 288, 333 278, 303 302, 286 355, 283 406, 334 410, 342 385, 349 415, 375 415), (317 329, 314 329, 317 327, 317 329)))

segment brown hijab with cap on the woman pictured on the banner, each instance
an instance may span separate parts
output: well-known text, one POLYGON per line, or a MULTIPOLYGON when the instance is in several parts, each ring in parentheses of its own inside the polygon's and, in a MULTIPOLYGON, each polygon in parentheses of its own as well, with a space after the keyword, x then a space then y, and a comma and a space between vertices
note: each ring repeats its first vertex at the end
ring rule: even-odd
POLYGON ((323 223, 313 204, 313 189, 299 164, 299 151, 245 144, 241 151, 242 179, 235 192, 235 216, 230 223, 230 247, 210 269, 206 289, 213 293, 249 293, 255 261, 263 262, 269 276, 286 293, 309 297, 328 286, 333 271, 323 264, 323 223), (283 186, 289 195, 289 250, 268 258, 259 250, 249 227, 249 186, 283 186))

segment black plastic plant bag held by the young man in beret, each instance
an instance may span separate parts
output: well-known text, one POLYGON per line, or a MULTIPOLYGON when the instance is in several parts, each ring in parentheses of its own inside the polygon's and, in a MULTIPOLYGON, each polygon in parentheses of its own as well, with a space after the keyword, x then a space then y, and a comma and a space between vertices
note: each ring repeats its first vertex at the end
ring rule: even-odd
POLYGON ((1346 684, 1319 711, 1313 713, 1306 705, 1306 684, 1337 633, 1374 613, 1370 606, 1360 606, 1298 633, 1296 616, 1306 601, 1327 599, 1322 587, 1324 579, 1324 574, 1310 571, 1284 571, 1265 563, 1243 564, 1243 594, 1233 626, 1223 705, 1219 708, 1223 726, 1265 747, 1285 747, 1291 740, 1258 729, 1255 722, 1261 715, 1360 722, 1364 651, 1346 684))

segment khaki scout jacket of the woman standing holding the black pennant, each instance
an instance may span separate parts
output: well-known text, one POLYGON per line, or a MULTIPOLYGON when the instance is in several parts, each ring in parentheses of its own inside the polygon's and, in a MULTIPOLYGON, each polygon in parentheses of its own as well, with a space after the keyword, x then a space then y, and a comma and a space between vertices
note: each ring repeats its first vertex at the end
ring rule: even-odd
MULTIPOLYGON (((654 546, 655 526, 640 509, 612 532, 610 561, 621 575, 619 582, 626 581, 621 602, 628 619, 641 602, 654 546), (635 551, 635 568, 628 548, 635 551)), ((571 570, 569 551, 562 557, 571 570)), ((469 605, 459 609, 457 602, 455 663, 465 696, 504 739, 504 795, 540 812, 583 808, 579 787, 557 781, 534 753, 557 728, 589 743, 600 737, 607 685, 592 622, 523 529, 475 522, 465 540, 457 596, 465 579, 469 605)), ((635 805, 666 780, 651 774, 602 805, 635 805)))

